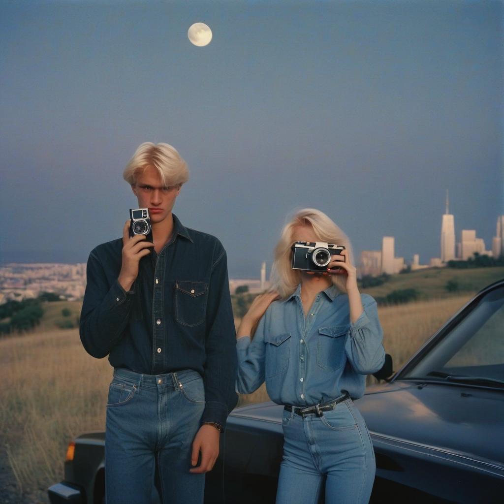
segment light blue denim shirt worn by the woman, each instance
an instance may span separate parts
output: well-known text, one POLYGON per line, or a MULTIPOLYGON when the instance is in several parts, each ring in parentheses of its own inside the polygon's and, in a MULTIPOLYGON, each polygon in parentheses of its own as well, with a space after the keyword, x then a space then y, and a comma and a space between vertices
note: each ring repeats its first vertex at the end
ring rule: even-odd
POLYGON ((364 311, 350 323, 348 295, 333 285, 320 292, 306 318, 301 284, 285 300, 270 304, 253 340, 236 342, 236 390, 250 394, 266 380, 271 400, 311 406, 347 391, 362 397, 366 374, 385 360, 376 301, 361 294, 364 311))

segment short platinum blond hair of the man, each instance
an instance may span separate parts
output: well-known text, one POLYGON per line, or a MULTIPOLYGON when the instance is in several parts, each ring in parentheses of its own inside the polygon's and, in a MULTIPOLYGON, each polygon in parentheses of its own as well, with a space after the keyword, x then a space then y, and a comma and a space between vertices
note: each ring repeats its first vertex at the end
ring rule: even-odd
POLYGON ((187 164, 177 150, 168 144, 156 145, 152 142, 144 142, 140 145, 124 169, 122 176, 130 185, 135 185, 138 173, 148 166, 157 169, 165 186, 183 184, 189 179, 187 164))

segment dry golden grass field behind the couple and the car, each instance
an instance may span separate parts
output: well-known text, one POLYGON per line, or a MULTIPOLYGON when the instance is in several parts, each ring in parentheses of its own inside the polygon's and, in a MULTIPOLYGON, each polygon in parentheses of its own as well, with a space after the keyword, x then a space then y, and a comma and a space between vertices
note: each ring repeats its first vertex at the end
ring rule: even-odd
MULTIPOLYGON (((380 308, 385 348, 394 369, 471 295, 380 308)), ((0 340, 0 432, 20 492, 46 502, 63 476, 66 447, 84 431, 103 430, 112 369, 94 359, 73 330, 39 330, 0 340)), ((264 386, 239 404, 267 400, 264 386)))

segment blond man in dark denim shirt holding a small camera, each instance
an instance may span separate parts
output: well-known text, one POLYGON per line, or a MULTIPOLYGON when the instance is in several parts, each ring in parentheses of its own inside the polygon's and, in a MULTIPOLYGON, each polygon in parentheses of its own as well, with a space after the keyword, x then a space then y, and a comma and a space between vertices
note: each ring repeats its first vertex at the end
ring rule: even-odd
POLYGON ((168 144, 143 143, 123 173, 148 208, 153 241, 129 236, 91 251, 80 335, 114 367, 105 430, 107 504, 201 504, 205 472, 236 404, 227 261, 220 241, 172 213, 187 166, 168 144))

